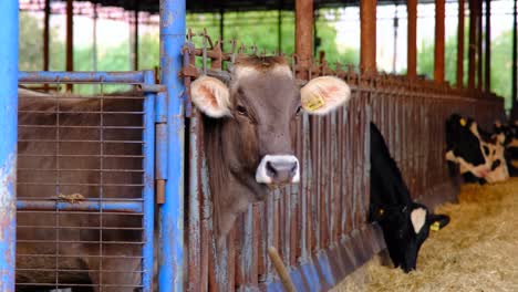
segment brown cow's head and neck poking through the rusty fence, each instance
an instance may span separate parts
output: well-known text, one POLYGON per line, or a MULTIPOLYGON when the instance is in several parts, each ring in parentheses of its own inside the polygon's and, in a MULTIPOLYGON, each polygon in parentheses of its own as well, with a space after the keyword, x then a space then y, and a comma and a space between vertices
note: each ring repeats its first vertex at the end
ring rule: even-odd
POLYGON ((269 187, 299 182, 294 133, 302 111, 325 115, 350 98, 341 80, 318 77, 300 88, 282 58, 238 61, 227 86, 201 76, 191 100, 205 115, 206 155, 220 239, 269 187))

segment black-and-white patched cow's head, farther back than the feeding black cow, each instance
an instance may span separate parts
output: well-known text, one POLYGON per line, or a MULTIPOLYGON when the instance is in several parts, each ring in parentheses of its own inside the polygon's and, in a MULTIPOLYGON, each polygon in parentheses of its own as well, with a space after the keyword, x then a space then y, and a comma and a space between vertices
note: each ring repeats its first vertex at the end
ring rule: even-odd
POLYGON ((460 174, 469 181, 485 182, 491 171, 489 147, 484 145, 478 125, 472 118, 453 114, 446 121, 446 159, 457 164, 460 174))

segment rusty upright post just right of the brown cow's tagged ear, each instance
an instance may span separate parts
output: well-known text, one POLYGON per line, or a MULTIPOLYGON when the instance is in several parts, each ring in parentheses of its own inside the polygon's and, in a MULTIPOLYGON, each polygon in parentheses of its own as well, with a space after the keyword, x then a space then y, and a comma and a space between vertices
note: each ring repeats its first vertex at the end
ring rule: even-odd
POLYGON ((360 70, 376 71, 376 0, 360 1, 360 70))

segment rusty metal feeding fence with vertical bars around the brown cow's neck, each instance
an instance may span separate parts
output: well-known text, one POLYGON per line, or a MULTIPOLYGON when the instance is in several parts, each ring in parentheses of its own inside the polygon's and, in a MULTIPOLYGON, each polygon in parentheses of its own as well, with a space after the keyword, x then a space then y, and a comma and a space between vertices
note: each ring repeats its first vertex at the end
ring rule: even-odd
MULTIPOLYGON (((238 48, 235 42, 225 53, 220 42, 213 43, 204 33, 196 40, 198 36, 189 33, 184 50, 186 88, 199 74, 228 79, 222 67, 231 66, 240 54, 260 54, 257 48, 238 48)), ((292 61, 293 72, 303 70, 297 58, 292 61)), ((362 75, 342 70, 340 64, 332 70, 324 60, 308 71, 310 79, 328 74, 344 79, 352 87, 351 102, 325 117, 301 118, 296 147, 302 166, 301 184, 277 190, 265 202, 250 206, 221 252, 216 251, 213 237, 203 123, 200 114, 187 104, 188 291, 280 290, 267 253, 270 246, 290 267, 298 291, 329 289, 384 248, 380 230, 366 220, 369 123, 373 121, 381 128, 413 198, 433 207, 455 199, 458 191, 444 158, 447 116, 460 113, 488 126, 504 114, 501 98, 432 81, 362 75)))

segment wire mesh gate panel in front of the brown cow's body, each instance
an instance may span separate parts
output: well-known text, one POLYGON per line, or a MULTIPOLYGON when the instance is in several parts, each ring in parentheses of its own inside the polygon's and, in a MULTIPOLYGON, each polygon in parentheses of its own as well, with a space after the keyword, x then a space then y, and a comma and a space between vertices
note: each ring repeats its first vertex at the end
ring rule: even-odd
POLYGON ((17 291, 149 291, 154 95, 106 87, 20 93, 17 291))

